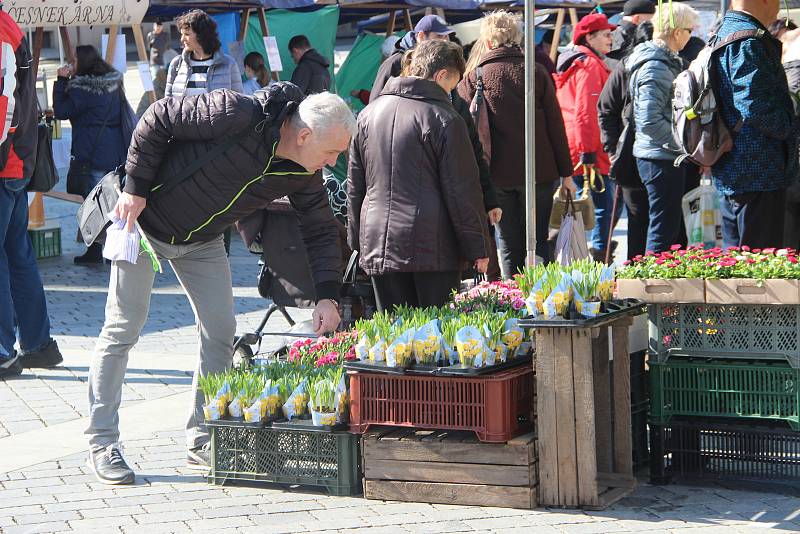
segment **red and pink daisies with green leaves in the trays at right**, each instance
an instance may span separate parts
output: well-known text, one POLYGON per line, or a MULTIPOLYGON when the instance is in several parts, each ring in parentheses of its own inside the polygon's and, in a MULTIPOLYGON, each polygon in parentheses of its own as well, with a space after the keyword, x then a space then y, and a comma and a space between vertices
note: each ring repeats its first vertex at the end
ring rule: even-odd
POLYGON ((791 248, 750 249, 729 247, 705 249, 672 245, 660 254, 648 252, 624 263, 617 272, 622 279, 650 278, 754 278, 800 279, 798 253, 791 248))

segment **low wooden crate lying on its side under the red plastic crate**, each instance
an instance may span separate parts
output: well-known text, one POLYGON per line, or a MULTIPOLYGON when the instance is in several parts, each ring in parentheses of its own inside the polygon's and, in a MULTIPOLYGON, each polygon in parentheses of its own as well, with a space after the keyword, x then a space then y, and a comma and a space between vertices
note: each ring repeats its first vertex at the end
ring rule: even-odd
POLYGON ((376 427, 361 443, 367 499, 536 507, 532 433, 499 444, 467 431, 376 427))

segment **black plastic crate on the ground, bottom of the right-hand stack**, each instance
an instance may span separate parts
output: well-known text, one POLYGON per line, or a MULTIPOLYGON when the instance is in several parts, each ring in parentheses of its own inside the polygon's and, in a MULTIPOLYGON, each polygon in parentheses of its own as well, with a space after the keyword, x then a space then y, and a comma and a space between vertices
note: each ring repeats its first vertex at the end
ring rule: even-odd
POLYGON ((800 433, 780 424, 673 417, 650 424, 650 481, 673 477, 800 481, 800 433))

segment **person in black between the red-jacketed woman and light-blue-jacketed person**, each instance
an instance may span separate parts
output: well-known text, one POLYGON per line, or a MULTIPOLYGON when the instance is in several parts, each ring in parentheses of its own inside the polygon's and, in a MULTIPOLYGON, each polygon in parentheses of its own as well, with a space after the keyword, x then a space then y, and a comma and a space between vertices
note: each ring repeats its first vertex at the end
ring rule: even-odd
MULTIPOLYGON (((627 54, 653 38, 653 24, 642 22, 627 54)), ((611 179, 622 190, 622 200, 628 213, 628 259, 642 255, 647 250, 649 202, 647 189, 639 177, 633 157, 633 137, 636 124, 633 120, 633 102, 628 90, 627 57, 623 56, 608 78, 597 103, 600 121, 600 138, 603 150, 611 156, 611 179), (627 128, 627 130, 626 130, 627 128)))

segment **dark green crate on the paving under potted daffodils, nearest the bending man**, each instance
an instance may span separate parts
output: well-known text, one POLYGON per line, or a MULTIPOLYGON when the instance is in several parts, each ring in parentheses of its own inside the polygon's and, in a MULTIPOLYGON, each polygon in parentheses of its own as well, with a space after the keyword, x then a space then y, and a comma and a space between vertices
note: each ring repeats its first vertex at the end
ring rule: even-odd
POLYGON ((211 433, 208 481, 301 484, 330 495, 358 495, 361 486, 359 436, 254 428, 229 421, 207 421, 211 433))

